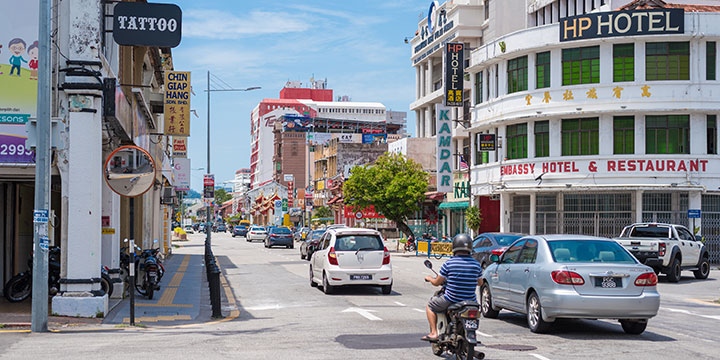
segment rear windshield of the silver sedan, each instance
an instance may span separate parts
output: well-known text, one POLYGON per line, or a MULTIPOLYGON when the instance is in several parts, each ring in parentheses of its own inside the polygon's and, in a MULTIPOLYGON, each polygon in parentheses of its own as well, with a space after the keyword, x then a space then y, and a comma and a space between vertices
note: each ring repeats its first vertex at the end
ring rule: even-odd
POLYGON ((625 249, 615 241, 553 240, 548 241, 553 259, 558 263, 636 264, 625 249))

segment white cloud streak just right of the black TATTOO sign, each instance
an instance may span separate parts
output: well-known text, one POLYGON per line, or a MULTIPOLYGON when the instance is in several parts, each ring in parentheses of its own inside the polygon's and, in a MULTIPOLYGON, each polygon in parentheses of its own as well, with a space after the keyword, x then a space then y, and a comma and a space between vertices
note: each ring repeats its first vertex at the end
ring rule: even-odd
POLYGON ((310 23, 286 12, 254 10, 244 17, 238 17, 219 10, 188 10, 183 19, 183 36, 207 39, 239 39, 308 29, 310 23))

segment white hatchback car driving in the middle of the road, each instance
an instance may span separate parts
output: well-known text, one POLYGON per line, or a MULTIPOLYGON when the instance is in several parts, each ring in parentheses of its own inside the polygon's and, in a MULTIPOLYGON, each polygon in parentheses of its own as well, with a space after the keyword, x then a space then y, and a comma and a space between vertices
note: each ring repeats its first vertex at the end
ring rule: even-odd
POLYGON ((337 286, 376 285, 392 292, 390 252, 376 230, 331 228, 310 259, 310 286, 321 284, 326 294, 337 286))

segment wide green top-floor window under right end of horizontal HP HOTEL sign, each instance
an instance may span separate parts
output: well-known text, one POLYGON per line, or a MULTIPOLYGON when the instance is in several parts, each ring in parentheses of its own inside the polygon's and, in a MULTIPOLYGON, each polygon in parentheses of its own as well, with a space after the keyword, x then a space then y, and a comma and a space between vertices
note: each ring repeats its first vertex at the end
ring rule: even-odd
POLYGON ((645 44, 645 79, 690 80, 690 43, 645 44))

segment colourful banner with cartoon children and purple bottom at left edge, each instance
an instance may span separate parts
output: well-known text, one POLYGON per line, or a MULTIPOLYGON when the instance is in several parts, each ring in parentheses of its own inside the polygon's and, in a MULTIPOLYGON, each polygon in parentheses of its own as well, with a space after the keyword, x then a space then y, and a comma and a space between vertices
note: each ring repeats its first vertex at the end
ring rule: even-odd
POLYGON ((37 111, 38 10, 37 0, 0 2, 0 163, 35 162, 25 124, 37 111))

